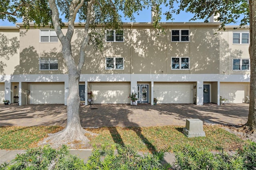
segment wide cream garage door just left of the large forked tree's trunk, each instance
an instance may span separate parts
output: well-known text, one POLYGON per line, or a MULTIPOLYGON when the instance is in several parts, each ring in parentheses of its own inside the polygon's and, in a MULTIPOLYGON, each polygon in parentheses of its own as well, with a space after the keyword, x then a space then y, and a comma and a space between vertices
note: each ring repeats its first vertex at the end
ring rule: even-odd
POLYGON ((30 97, 31 104, 64 104, 64 83, 33 83, 30 97))

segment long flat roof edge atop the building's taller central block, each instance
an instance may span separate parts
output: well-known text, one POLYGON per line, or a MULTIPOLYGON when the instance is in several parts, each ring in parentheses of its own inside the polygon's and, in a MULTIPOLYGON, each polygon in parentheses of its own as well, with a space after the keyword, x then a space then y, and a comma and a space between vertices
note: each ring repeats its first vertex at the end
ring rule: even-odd
MULTIPOLYGON (((220 26, 222 22, 160 22, 161 26, 220 26)), ((29 23, 30 26, 34 26, 34 23, 29 23)), ((68 26, 68 23, 64 23, 68 26)), ((75 22, 74 26, 83 26, 85 22, 75 22)), ((18 26, 23 26, 23 22, 16 23, 18 26)), ((122 26, 152 26, 152 22, 123 22, 122 26)), ((100 24, 99 24, 100 26, 100 24)))

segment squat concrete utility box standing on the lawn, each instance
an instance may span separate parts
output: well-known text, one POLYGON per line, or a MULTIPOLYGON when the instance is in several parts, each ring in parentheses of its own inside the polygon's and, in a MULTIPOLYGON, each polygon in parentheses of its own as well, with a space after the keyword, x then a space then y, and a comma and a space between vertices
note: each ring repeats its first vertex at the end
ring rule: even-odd
POLYGON ((183 128, 182 133, 189 138, 205 136, 203 121, 200 119, 186 119, 186 128, 183 128))

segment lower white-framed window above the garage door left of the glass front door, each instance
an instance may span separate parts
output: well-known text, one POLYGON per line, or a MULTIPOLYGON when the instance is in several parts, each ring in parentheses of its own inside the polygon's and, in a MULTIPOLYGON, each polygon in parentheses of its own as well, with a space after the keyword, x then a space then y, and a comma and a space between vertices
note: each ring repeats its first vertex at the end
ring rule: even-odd
POLYGON ((123 57, 106 57, 106 69, 107 70, 124 69, 124 58, 123 57))

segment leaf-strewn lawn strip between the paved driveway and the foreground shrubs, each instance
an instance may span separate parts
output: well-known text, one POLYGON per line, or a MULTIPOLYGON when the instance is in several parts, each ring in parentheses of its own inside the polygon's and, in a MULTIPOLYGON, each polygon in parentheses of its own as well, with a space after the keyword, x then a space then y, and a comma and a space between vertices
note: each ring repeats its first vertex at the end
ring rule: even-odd
MULTIPOLYGON (((227 132, 218 125, 204 125, 206 137, 187 138, 181 126, 162 127, 102 127, 87 128, 99 134, 86 136, 92 145, 119 143, 130 146, 138 151, 154 151, 175 146, 182 147, 186 144, 195 147, 206 147, 209 150, 236 150, 244 144, 244 140, 227 132)), ((0 149, 27 149, 35 147, 36 143, 46 137, 48 133, 62 130, 63 127, 38 126, 38 127, 0 127, 0 149)))

